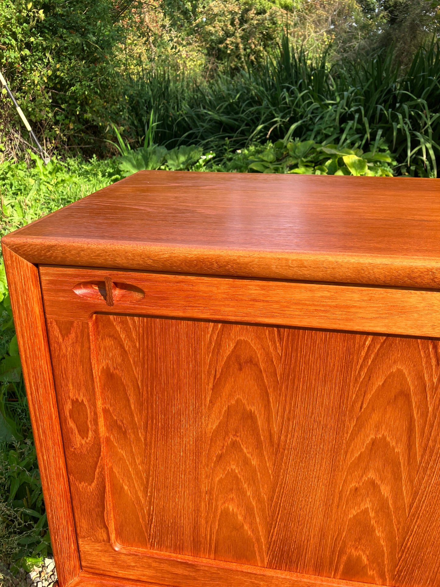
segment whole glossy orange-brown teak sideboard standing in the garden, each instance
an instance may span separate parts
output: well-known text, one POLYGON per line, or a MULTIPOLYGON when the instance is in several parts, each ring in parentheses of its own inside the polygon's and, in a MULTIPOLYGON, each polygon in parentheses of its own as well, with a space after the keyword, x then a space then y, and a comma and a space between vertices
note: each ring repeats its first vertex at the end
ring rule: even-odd
POLYGON ((60 587, 440 586, 440 180, 141 171, 2 249, 60 587))

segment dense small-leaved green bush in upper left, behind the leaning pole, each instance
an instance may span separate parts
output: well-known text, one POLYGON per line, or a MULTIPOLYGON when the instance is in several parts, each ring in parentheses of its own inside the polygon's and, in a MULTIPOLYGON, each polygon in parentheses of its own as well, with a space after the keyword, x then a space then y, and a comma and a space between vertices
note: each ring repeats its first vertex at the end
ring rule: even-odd
MULTIPOLYGON (((119 46, 133 6, 134 0, 0 0, 0 69, 52 147, 84 144, 120 113, 119 46)), ((21 126, 15 109, 9 117, 21 126)))

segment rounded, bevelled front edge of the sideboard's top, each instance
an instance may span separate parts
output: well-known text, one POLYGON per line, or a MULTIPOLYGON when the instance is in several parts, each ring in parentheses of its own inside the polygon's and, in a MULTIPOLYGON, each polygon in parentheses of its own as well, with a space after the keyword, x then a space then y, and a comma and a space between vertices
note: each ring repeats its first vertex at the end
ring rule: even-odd
POLYGON ((59 237, 19 238, 18 234, 3 237, 2 245, 35 265, 440 288, 440 259, 432 258, 76 242, 59 237))

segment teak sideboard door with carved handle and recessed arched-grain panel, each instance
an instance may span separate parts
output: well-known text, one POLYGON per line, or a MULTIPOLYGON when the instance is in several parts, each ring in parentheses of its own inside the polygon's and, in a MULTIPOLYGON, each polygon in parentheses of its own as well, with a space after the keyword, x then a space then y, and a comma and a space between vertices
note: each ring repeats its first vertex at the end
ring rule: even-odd
POLYGON ((84 570, 438 585, 438 340, 337 330, 350 292, 313 284, 40 276, 84 570))

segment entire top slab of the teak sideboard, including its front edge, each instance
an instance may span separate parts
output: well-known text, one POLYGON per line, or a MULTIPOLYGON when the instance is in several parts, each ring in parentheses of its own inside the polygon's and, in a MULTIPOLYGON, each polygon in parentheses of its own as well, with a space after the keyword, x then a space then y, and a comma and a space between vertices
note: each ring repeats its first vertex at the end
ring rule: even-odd
POLYGON ((33 263, 440 286, 440 180, 140 171, 18 231, 33 263))

